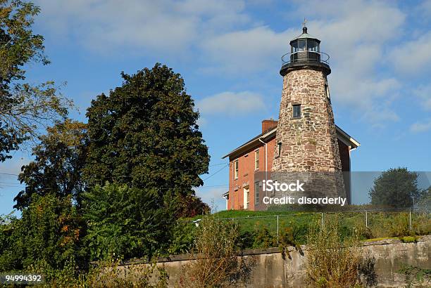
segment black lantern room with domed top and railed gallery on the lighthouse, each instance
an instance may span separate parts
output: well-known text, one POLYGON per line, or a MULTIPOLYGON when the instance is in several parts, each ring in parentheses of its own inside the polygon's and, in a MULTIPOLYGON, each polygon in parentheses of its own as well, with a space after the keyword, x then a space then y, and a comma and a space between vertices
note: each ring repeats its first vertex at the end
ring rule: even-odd
POLYGON ((320 51, 320 40, 308 34, 307 27, 303 27, 302 34, 290 41, 290 46, 290 53, 282 56, 282 76, 303 67, 316 67, 330 74, 329 55, 320 51))

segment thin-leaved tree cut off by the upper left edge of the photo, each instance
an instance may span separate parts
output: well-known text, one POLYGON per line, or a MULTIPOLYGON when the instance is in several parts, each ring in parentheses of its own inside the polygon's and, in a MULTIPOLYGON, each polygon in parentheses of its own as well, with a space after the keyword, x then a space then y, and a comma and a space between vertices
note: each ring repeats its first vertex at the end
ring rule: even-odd
POLYGON ((25 140, 37 140, 41 128, 65 117, 71 105, 52 81, 25 83, 25 65, 49 63, 44 38, 32 32, 39 11, 30 2, 0 0, 0 162, 25 140))

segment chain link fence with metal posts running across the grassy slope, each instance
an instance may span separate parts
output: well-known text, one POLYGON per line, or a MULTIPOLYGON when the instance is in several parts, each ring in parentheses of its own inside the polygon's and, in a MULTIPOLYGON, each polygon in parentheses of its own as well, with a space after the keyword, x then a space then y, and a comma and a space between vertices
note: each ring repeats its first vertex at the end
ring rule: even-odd
MULTIPOLYGON (((343 235, 357 233, 365 239, 431 234, 430 207, 411 209, 364 209, 337 212, 298 212, 263 216, 218 218, 237 223, 241 233, 267 235, 278 244, 289 235, 304 244, 308 231, 327 223, 339 225, 343 235), (284 239, 284 238, 283 238, 284 239)), ((199 225, 199 219, 193 221, 199 225)))

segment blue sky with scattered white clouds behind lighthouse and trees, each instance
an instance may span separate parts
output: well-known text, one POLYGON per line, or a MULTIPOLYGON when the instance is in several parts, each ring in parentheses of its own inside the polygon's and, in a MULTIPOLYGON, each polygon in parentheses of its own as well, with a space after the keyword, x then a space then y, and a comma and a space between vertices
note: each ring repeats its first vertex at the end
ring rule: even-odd
MULTIPOLYGON (((70 117, 86 122, 90 101, 119 86, 122 71, 160 62, 182 74, 211 153, 210 174, 202 178, 211 177, 197 194, 218 209, 225 208, 220 195, 228 183, 221 157, 256 136, 262 119, 277 119, 280 58, 301 34, 304 17, 330 55, 335 122, 361 143, 352 170, 430 170, 431 1, 35 3, 42 8, 35 32, 45 37, 51 65, 30 65, 27 80, 67 81, 62 93, 77 106, 70 117)), ((0 172, 18 174, 30 160, 29 152, 15 152, 0 172)), ((0 214, 6 214, 21 186, 7 175, 0 185, 0 214)))

